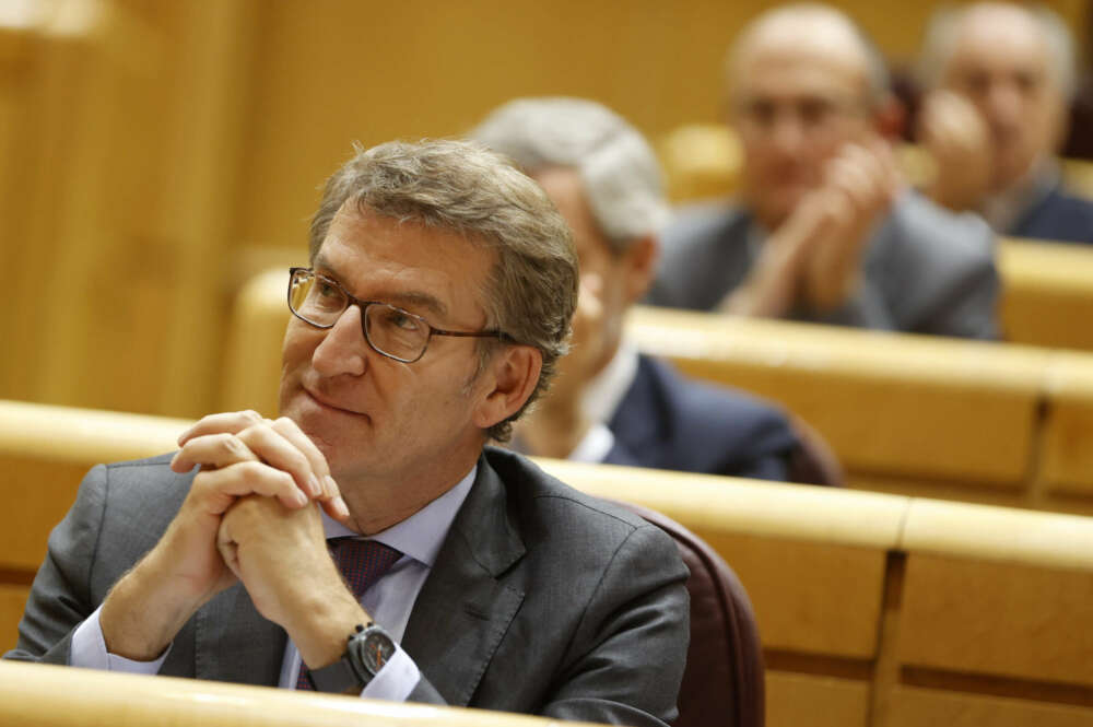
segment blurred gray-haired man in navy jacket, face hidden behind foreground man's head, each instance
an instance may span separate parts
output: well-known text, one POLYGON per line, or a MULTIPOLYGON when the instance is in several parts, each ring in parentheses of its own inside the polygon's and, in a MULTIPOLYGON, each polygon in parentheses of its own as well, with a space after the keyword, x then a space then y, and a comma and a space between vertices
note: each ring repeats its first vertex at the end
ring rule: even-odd
POLYGON ((640 133, 579 98, 525 98, 472 137, 536 179, 573 231, 580 291, 571 352, 554 387, 517 429, 530 454, 774 480, 799 443, 785 415, 739 391, 680 377, 627 343, 623 321, 656 269, 669 216, 640 133))

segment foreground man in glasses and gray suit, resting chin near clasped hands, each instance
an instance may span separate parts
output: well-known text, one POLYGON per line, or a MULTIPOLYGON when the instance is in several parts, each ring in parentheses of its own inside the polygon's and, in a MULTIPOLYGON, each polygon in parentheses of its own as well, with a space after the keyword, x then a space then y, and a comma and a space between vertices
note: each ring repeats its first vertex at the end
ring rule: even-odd
POLYGON ((283 417, 210 415, 173 456, 92 470, 8 658, 673 718, 673 542, 484 447, 545 388, 576 303, 542 190, 473 144, 383 144, 327 183, 310 258, 283 417))

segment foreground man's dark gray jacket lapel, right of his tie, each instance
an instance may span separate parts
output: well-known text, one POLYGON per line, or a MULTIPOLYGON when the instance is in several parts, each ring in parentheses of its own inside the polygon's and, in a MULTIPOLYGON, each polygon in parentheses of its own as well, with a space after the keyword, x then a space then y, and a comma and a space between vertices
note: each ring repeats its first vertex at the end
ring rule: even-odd
POLYGON ((525 553, 505 485, 479 459, 478 477, 422 586, 402 648, 448 704, 466 706, 524 591, 498 581, 525 553))

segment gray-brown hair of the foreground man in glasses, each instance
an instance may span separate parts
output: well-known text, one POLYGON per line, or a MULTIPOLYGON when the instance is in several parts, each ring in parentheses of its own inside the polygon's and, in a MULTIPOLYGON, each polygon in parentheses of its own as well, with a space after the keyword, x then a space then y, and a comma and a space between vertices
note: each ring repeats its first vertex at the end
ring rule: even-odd
MULTIPOLYGON (((512 422, 546 390, 568 350, 577 304, 577 256, 565 220, 534 181, 505 159, 468 141, 388 142, 355 155, 326 184, 312 220, 312 260, 330 223, 349 202, 400 223, 454 232, 494 250, 486 281, 487 326, 542 353, 542 372, 524 406, 490 427, 500 442, 512 422)), ((480 339, 479 371, 497 345, 480 339)))

